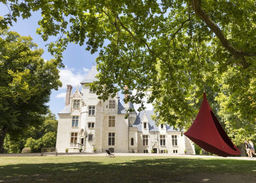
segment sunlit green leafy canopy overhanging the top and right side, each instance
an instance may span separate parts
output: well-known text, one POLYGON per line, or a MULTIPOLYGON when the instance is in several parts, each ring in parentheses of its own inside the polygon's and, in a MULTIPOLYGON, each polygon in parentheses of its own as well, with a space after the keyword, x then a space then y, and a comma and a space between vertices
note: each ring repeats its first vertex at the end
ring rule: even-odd
POLYGON ((101 72, 92 85, 99 98, 122 90, 129 94, 127 100, 142 104, 142 110, 142 98, 150 90, 148 102, 154 104, 155 119, 182 127, 195 118, 204 88, 229 136, 238 142, 252 137, 256 128, 255 1, 3 3, 10 14, 1 21, 2 27, 17 16, 28 18, 31 11, 41 11, 37 33, 45 41, 58 37, 49 44, 49 51, 60 65, 69 42, 86 44, 91 53, 100 50, 96 62, 101 72), (125 85, 129 90, 123 90, 125 85))

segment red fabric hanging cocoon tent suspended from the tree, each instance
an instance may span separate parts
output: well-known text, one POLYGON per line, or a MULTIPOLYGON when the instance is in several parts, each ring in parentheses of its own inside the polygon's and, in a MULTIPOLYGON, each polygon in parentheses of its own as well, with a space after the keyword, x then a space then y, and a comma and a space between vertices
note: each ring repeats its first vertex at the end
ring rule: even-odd
POLYGON ((212 112, 205 93, 197 117, 184 135, 210 153, 223 157, 241 154, 212 112))

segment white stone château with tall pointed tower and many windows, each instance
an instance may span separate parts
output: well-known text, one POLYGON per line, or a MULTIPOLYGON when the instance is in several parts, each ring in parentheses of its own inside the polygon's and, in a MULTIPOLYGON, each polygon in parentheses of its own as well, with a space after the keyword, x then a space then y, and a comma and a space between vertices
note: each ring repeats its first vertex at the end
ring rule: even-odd
POLYGON ((99 100, 90 91, 87 83, 95 80, 96 66, 72 93, 72 86, 67 85, 65 108, 58 113, 58 131, 56 148, 58 152, 105 152, 106 149, 116 153, 168 153, 195 154, 193 142, 180 131, 169 125, 156 126, 151 119, 153 111, 130 113, 125 119, 126 109, 133 104, 120 103, 118 95, 107 101, 99 100), (145 123, 145 126, 144 126, 145 123), (145 127, 145 128, 144 128, 145 127), (161 128, 162 127, 162 128, 161 128), (133 141, 133 143, 132 143, 133 141))

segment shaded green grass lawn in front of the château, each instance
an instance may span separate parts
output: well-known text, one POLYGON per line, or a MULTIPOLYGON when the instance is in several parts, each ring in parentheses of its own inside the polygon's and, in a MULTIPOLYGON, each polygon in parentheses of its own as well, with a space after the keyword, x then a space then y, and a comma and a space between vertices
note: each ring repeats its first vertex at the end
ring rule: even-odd
POLYGON ((254 182, 256 161, 183 157, 0 157, 0 182, 254 182))

